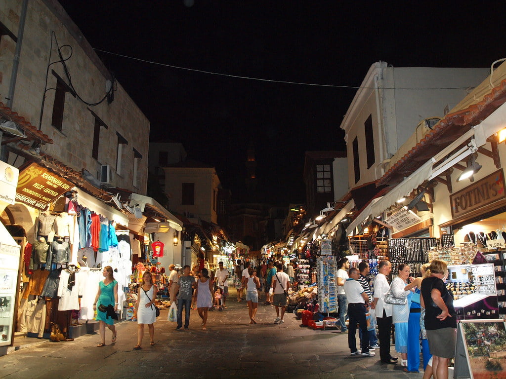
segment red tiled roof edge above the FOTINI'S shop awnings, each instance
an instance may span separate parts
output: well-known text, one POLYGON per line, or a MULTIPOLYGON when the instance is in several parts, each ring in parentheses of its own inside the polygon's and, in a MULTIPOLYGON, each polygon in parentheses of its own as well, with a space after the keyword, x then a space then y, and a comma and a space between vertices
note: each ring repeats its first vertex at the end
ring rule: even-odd
POLYGON ((482 101, 466 109, 447 114, 430 133, 379 178, 376 185, 398 184, 437 152, 486 119, 504 102, 506 102, 506 79, 486 94, 482 101))

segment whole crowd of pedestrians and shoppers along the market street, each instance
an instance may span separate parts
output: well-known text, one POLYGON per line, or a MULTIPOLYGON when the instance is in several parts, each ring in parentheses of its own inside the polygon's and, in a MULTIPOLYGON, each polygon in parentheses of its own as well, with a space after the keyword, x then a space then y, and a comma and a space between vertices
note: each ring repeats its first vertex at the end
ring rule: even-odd
MULTIPOLYGON (((196 309, 201 319, 202 330, 206 330, 207 312, 214 306, 226 308, 229 297, 229 278, 234 278, 237 302, 246 300, 249 323, 256 324, 259 293, 265 292, 265 305, 276 310, 275 323, 284 322, 287 306, 288 288, 294 279, 294 268, 290 263, 262 261, 252 267, 249 261, 234 262, 233 273, 219 262, 216 271, 209 271, 202 261, 191 270, 183 267, 180 276, 174 265, 169 267, 169 292, 171 302, 177 302, 176 330, 189 328, 190 310, 196 309), (193 272, 192 272, 193 271, 193 272), (286 271, 286 272, 285 272, 286 271), (243 297, 244 296, 244 297, 243 297), (183 308, 185 319, 183 324, 183 308)), ((338 288, 338 317, 341 333, 348 333, 351 355, 375 356, 379 348, 379 358, 385 364, 398 364, 398 358, 390 353, 392 324, 395 325, 395 350, 400 354, 401 365, 408 372, 418 372, 420 365, 421 336, 424 378, 447 379, 448 361, 453 358, 456 339, 456 318, 453 298, 444 284, 448 274, 444 261, 433 260, 421 267, 420 277, 410 276, 407 264, 396 268, 395 276, 389 283, 388 276, 392 265, 388 260, 378 263, 378 273, 373 280, 371 291, 367 275, 369 265, 360 262, 351 267, 347 258, 341 259, 336 273, 338 288), (377 325, 368 327, 367 318, 374 319, 377 325), (348 319, 348 323, 346 320, 348 319), (360 351, 356 347, 356 331, 359 328, 360 351)), ((104 268, 104 280, 100 282, 94 309, 100 322, 101 342, 105 346, 105 327, 112 331, 111 342, 116 341, 113 313, 117 309, 117 281, 114 280, 110 266, 104 268)), ((142 349, 144 324, 148 324, 150 345, 154 345, 156 320, 154 301, 157 288, 152 276, 146 272, 138 289, 135 316, 139 324, 138 343, 134 349, 142 349)), ((117 317, 116 317, 117 318, 117 317)))

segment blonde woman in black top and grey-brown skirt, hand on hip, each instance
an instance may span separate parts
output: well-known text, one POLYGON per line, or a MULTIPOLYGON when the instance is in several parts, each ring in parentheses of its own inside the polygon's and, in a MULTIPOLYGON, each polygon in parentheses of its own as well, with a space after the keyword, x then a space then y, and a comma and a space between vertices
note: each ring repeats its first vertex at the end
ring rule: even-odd
POLYGON ((425 328, 433 356, 434 377, 448 379, 448 361, 455 355, 455 309, 443 281, 448 272, 446 262, 435 259, 429 270, 431 276, 421 282, 420 304, 426 310, 425 328))

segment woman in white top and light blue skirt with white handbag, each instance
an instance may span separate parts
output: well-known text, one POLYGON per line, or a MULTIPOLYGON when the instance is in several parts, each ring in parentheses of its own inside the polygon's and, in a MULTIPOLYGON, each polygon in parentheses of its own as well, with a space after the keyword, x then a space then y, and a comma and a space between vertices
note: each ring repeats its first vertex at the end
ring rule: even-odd
POLYGON ((409 266, 400 264, 397 267, 398 276, 392 280, 390 290, 396 298, 406 298, 406 304, 392 306, 392 322, 395 325, 395 350, 401 353, 401 365, 408 365, 408 318, 411 303, 411 291, 404 291, 409 277, 409 266))

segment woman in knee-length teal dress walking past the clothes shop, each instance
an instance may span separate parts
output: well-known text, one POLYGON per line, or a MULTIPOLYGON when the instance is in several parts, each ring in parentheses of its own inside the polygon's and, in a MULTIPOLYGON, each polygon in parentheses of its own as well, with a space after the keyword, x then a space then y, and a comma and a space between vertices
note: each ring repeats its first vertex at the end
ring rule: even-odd
POLYGON ((107 312, 99 310, 100 304, 105 307, 108 305, 114 306, 114 311, 118 308, 118 282, 114 280, 113 271, 111 266, 105 266, 102 272, 104 280, 99 283, 98 293, 95 297, 93 309, 97 310, 97 321, 99 321, 100 337, 102 342, 97 347, 105 346, 105 325, 112 331, 111 342, 116 342, 116 327, 113 324, 112 317, 107 318, 107 312))

